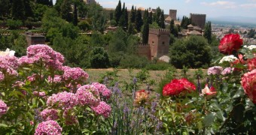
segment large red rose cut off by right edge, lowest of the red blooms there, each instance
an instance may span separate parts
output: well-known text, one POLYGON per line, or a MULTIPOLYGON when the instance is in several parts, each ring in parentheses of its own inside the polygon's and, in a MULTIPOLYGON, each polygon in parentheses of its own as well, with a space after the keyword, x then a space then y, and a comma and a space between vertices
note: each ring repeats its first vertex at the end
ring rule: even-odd
POLYGON ((244 74, 241 83, 245 94, 256 104, 256 69, 244 74))

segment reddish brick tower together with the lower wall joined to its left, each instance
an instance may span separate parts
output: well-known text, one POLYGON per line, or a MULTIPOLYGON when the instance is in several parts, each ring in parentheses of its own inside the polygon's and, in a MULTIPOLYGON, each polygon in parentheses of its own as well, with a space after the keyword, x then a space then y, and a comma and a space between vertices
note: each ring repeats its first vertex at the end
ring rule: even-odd
POLYGON ((169 53, 169 30, 150 29, 148 34, 148 44, 137 46, 139 55, 144 55, 148 59, 160 58, 169 53))

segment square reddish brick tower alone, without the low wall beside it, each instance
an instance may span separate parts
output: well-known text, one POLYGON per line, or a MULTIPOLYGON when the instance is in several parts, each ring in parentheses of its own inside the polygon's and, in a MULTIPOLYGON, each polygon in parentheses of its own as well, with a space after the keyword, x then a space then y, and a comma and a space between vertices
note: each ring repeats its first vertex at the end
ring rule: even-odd
POLYGON ((160 58, 169 53, 169 30, 150 29, 148 34, 148 44, 151 47, 151 60, 160 58))

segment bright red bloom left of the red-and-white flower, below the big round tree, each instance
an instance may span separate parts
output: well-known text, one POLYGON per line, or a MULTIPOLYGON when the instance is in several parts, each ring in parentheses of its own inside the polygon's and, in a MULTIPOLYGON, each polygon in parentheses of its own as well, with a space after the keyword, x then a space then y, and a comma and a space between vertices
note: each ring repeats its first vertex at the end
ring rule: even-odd
POLYGON ((172 80, 163 87, 163 96, 178 95, 186 90, 188 92, 195 91, 196 86, 185 78, 182 78, 181 80, 172 80))

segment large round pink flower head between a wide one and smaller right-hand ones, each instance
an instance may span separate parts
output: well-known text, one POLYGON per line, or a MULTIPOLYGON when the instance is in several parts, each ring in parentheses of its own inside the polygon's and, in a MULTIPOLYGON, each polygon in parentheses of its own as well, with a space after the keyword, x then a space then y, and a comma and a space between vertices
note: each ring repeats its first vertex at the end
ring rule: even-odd
POLYGON ((84 105, 97 105, 99 104, 99 92, 95 86, 85 85, 81 86, 75 93, 78 98, 78 104, 84 105))

